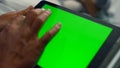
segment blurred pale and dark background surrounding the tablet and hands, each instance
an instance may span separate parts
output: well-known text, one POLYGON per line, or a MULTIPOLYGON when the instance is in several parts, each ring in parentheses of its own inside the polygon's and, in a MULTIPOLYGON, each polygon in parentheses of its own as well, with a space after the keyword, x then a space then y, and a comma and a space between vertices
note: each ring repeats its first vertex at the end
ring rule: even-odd
MULTIPOLYGON (((0 0, 0 14, 19 11, 41 0, 0 0)), ((120 27, 120 0, 47 0, 78 13, 92 16, 120 27)), ((116 42, 100 68, 120 68, 120 39, 116 42)))

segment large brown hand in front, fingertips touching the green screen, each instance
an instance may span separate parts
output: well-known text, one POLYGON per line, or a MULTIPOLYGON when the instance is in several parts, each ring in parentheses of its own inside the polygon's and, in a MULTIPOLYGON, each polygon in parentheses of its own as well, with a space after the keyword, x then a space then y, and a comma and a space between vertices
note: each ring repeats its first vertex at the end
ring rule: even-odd
POLYGON ((34 68, 45 45, 60 29, 57 24, 41 39, 37 38, 50 14, 50 10, 30 9, 10 19, 0 32, 0 68, 34 68))

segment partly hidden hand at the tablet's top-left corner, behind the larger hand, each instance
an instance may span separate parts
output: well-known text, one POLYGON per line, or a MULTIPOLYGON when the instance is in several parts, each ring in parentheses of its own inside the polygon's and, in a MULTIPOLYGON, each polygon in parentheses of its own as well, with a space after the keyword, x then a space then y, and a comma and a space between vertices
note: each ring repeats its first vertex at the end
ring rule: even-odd
POLYGON ((33 9, 33 6, 29 6, 27 9, 22 11, 9 12, 3 15, 0 15, 0 31, 18 15, 26 16, 26 14, 33 9))

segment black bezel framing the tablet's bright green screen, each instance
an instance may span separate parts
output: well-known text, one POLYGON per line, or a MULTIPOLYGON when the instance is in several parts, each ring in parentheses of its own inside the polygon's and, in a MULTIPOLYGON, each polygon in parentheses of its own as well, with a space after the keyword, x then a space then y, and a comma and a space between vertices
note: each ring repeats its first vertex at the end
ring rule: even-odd
MULTIPOLYGON (((97 19, 95 19, 91 16, 72 11, 70 9, 67 9, 65 7, 62 7, 62 6, 47 2, 47 1, 41 1, 37 6, 35 6, 35 8, 42 8, 45 4, 51 5, 53 7, 59 8, 59 9, 62 9, 64 11, 68 11, 70 13, 73 13, 75 15, 78 15, 80 17, 84 17, 84 18, 92 20, 92 21, 95 21, 99 24, 108 26, 108 27, 113 29, 113 31, 111 32, 111 34, 109 35, 107 40, 104 42, 103 46, 100 48, 98 53, 92 59, 91 63, 88 65, 88 68, 99 68, 99 66, 102 64, 103 60, 105 59, 105 57, 107 56, 107 54, 109 53, 109 51, 111 50, 111 48, 113 47, 113 45, 115 44, 117 39, 120 37, 120 28, 117 27, 117 26, 114 26, 110 23, 107 23, 107 22, 104 22, 104 21, 101 21, 101 20, 97 20, 97 19)), ((41 67, 36 66, 36 68, 41 68, 41 67)))

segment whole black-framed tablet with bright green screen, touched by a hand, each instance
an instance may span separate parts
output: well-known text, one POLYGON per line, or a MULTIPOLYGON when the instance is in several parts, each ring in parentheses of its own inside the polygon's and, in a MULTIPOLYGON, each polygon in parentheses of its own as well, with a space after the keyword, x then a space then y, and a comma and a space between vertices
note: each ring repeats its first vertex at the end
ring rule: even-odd
POLYGON ((120 29, 62 6, 41 1, 35 8, 51 9, 41 38, 56 23, 61 30, 47 44, 36 68, 98 68, 120 36, 120 29))

